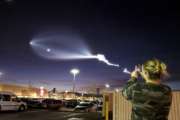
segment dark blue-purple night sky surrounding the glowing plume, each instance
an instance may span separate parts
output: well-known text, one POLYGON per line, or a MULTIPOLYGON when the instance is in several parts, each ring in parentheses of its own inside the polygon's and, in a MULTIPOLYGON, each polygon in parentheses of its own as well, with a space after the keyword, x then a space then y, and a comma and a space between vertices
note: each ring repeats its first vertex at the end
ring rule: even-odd
POLYGON ((74 67, 81 71, 78 86, 121 85, 128 80, 122 69, 97 60, 48 60, 29 45, 43 32, 65 31, 80 36, 92 53, 105 54, 121 68, 132 70, 149 58, 161 59, 171 74, 168 82, 177 88, 179 23, 176 3, 166 0, 1 0, 0 82, 70 88, 69 71, 74 67))

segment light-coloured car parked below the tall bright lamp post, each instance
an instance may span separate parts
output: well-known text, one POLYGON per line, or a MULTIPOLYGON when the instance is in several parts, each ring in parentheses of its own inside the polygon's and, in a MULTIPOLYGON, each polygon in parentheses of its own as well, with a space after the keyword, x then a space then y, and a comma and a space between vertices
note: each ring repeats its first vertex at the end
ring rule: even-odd
POLYGON ((77 112, 96 112, 97 105, 92 102, 80 102, 74 109, 77 112))

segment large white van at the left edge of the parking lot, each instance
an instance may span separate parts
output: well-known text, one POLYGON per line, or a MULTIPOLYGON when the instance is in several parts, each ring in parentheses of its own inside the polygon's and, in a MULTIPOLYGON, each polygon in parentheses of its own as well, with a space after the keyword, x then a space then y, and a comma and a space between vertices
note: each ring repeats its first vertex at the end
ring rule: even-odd
POLYGON ((26 109, 26 103, 20 101, 15 94, 0 91, 0 111, 25 111, 26 109))

